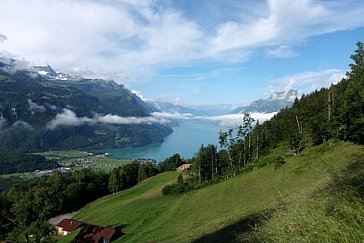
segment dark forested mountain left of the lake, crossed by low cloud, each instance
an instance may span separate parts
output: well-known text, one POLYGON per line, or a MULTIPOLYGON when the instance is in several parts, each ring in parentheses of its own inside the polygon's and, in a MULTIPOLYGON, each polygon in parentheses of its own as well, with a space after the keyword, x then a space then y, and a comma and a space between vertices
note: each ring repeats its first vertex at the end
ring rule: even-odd
POLYGON ((123 85, 0 59, 0 151, 133 147, 172 132, 123 85))

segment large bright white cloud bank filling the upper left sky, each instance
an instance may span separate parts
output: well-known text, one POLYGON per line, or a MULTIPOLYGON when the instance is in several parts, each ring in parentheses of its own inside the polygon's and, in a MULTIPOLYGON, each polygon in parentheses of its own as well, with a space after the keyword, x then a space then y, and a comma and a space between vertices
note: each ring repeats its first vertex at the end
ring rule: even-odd
POLYGON ((195 23, 172 9, 155 11, 153 1, 3 0, 1 5, 0 29, 8 38, 1 48, 57 69, 123 75, 181 61, 200 43, 195 23), (177 55, 177 50, 185 51, 177 55))

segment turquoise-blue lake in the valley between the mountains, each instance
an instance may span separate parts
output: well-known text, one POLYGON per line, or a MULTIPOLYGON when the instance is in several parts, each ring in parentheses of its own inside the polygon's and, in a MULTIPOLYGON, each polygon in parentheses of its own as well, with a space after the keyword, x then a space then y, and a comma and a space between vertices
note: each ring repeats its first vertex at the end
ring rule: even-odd
POLYGON ((188 159, 194 156, 201 144, 219 144, 220 127, 216 122, 206 120, 181 121, 178 127, 173 128, 173 133, 167 136, 163 143, 150 144, 137 148, 102 149, 97 152, 111 153, 116 159, 154 159, 157 162, 180 154, 188 159))

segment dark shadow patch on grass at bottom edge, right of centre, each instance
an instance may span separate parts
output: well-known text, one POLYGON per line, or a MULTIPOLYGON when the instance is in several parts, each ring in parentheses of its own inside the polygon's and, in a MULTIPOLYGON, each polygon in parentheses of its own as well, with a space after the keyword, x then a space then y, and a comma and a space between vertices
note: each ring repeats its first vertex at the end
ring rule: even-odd
POLYGON ((232 225, 211 234, 204 235, 193 242, 261 242, 255 234, 255 231, 263 223, 263 221, 271 217, 272 211, 273 210, 269 210, 262 213, 251 214, 232 225))

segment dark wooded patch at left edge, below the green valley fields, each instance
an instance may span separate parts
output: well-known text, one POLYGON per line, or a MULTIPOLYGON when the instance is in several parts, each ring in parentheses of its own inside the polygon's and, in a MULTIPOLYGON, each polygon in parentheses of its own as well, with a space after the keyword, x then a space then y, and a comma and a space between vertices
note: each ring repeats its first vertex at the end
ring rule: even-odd
POLYGON ((53 160, 42 155, 23 153, 0 153, 0 174, 32 172, 35 170, 55 169, 59 167, 53 160))

